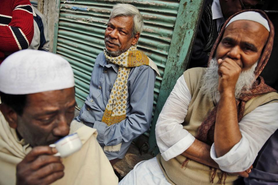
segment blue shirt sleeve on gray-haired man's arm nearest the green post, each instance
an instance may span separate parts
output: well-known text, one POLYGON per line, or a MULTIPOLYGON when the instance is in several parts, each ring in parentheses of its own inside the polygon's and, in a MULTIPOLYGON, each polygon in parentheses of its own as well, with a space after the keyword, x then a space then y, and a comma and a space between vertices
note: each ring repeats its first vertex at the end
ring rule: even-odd
POLYGON ((114 146, 129 142, 149 129, 156 74, 149 66, 140 69, 129 84, 131 114, 120 123, 110 126, 101 121, 94 122, 93 128, 98 131, 97 140, 100 145, 114 146))

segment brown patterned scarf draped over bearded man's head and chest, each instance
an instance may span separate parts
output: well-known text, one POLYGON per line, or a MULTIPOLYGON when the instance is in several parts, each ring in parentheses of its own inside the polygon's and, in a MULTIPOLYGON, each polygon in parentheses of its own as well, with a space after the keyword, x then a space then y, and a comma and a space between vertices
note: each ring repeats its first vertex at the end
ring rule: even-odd
MULTIPOLYGON (((268 40, 266 42, 266 45, 264 46, 264 49, 262 50, 261 57, 258 61, 257 67, 254 72, 256 81, 254 82, 254 84, 250 90, 243 92, 241 94, 241 96, 239 97, 239 99, 236 100, 238 122, 243 117, 246 101, 248 101, 256 96, 259 96, 261 94, 275 91, 273 88, 266 85, 264 83, 264 79, 261 76, 259 76, 261 71, 266 66, 266 63, 268 62, 268 59, 269 59, 271 51, 272 51, 273 39, 274 39, 273 24, 269 20, 268 16, 261 10, 242 10, 240 12, 233 14, 231 17, 229 17, 228 20, 224 23, 224 25, 220 31, 220 34, 215 41, 215 44, 214 44, 214 46, 211 50, 210 56, 209 56, 209 62, 214 57, 215 51, 217 49, 219 42, 222 39, 222 36, 224 34, 224 30, 225 30, 227 23, 231 20, 231 18, 233 18, 237 14, 240 14, 240 13, 246 12, 246 11, 259 12, 262 16, 264 16, 264 18, 266 18, 266 20, 268 21, 268 25, 270 27, 270 32, 269 32, 268 40)), ((207 143, 209 145, 212 145, 212 143, 214 142, 214 127, 215 127, 216 113, 217 113, 217 106, 215 106, 213 108, 213 110, 210 112, 209 116, 202 122, 202 124, 198 128, 196 139, 201 140, 202 142, 207 143)))

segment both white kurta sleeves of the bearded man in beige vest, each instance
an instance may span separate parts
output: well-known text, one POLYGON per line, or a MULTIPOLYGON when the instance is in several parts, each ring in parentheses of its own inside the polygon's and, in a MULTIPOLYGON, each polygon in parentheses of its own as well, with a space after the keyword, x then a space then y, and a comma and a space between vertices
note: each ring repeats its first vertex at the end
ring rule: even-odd
MULTIPOLYGON (((187 114, 191 95, 183 75, 178 79, 156 123, 156 140, 164 160, 170 160, 192 145, 195 138, 181 123, 187 114)), ((247 170, 266 140, 278 128, 278 103, 257 107, 239 122, 241 140, 224 156, 217 158, 214 144, 211 158, 226 172, 247 170)))

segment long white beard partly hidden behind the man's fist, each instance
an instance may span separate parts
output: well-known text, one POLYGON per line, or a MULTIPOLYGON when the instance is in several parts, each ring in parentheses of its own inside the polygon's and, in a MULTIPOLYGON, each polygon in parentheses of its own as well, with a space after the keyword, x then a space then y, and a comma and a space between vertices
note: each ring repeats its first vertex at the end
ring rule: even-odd
MULTIPOLYGON (((251 66, 250 69, 242 71, 237 79, 235 86, 235 98, 238 99, 243 91, 248 91, 255 82, 255 68, 258 61, 251 66)), ((205 74, 202 77, 203 85, 201 91, 206 95, 211 95, 211 100, 218 103, 220 99, 220 93, 218 91, 218 64, 215 58, 211 59, 209 67, 206 69, 205 74)))

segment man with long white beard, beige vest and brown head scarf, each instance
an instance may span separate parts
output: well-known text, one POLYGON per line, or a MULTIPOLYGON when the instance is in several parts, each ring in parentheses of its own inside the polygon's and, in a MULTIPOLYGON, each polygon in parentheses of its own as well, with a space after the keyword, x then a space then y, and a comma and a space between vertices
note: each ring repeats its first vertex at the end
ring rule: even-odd
POLYGON ((230 17, 208 69, 185 71, 168 97, 156 124, 161 153, 136 164, 120 184, 234 184, 248 177, 278 127, 278 94, 259 77, 273 37, 260 10, 230 17))

